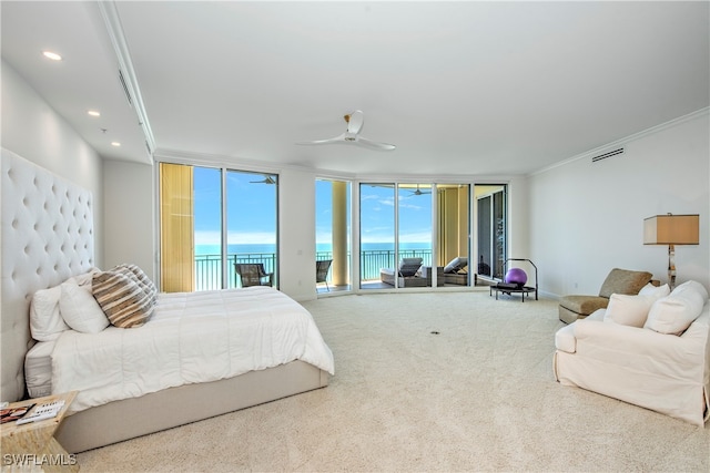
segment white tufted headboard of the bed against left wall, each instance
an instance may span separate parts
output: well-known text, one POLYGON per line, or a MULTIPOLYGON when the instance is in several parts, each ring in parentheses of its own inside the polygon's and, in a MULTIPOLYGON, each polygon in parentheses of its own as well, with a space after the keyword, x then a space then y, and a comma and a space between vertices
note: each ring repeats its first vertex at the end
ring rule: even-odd
POLYGON ((94 265, 91 192, 2 148, 0 399, 24 395, 34 291, 94 265))

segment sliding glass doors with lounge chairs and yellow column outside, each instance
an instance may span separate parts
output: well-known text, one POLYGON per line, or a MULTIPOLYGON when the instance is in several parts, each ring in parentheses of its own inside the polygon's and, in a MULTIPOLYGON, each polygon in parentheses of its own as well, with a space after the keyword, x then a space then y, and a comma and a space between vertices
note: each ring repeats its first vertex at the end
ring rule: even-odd
POLYGON ((470 184, 361 184, 361 288, 475 284, 470 184))

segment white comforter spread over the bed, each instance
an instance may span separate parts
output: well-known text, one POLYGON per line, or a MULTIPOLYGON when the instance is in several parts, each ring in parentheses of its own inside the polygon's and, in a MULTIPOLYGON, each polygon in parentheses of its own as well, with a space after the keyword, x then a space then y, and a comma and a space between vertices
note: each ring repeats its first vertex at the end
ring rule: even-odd
POLYGON ((140 328, 68 330, 52 353, 52 391, 79 390, 72 411, 293 360, 334 373, 311 313, 268 287, 159 295, 140 328))

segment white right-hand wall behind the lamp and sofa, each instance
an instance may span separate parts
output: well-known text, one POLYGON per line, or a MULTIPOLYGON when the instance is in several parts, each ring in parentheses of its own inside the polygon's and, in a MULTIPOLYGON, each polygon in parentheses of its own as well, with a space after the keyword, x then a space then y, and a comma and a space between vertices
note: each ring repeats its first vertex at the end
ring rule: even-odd
POLYGON ((710 132, 707 110, 630 137, 626 152, 591 155, 529 177, 529 248, 540 289, 598 294, 613 267, 668 280, 668 247, 642 244, 643 218, 700 214, 700 245, 677 246, 677 284, 710 286, 710 132))

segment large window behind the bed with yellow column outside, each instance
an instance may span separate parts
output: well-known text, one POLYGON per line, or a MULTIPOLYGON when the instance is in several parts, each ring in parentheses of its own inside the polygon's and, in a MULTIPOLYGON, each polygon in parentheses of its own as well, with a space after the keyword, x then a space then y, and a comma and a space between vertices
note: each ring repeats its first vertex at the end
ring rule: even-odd
POLYGON ((276 175, 170 163, 159 174, 161 290, 240 287, 236 263, 262 264, 277 286, 276 175))

